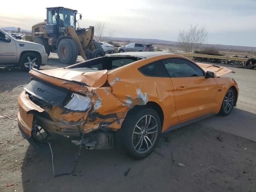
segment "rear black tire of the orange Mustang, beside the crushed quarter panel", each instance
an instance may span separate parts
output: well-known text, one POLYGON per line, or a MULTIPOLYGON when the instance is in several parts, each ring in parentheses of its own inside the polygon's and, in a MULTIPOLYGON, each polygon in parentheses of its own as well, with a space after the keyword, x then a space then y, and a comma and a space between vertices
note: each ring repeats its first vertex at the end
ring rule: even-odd
MULTIPOLYGON (((142 128, 143 129, 143 128, 142 128)), ((117 148, 121 149, 127 156, 134 158, 134 159, 143 159, 146 156, 148 156, 156 147, 156 144, 159 140, 160 133, 162 130, 161 121, 157 114, 157 112, 151 108, 145 108, 145 107, 138 107, 130 110, 124 119, 124 122, 122 123, 122 127, 120 130, 116 132, 116 146, 117 148), (134 130, 136 129, 136 125, 144 116, 153 116, 152 120, 157 122, 157 131, 154 135, 154 143, 152 145, 150 144, 149 140, 146 138, 142 138, 142 135, 138 135, 138 137, 141 137, 139 140, 142 141, 142 146, 144 145, 146 148, 146 144, 150 146, 147 151, 139 153, 137 152, 136 146, 134 147, 134 130), (146 142, 145 142, 146 140, 146 142), (144 144, 143 144, 144 142, 144 144)), ((138 134, 138 133, 137 133, 138 134)), ((149 137, 149 136, 148 136, 149 137)), ((137 138, 138 139, 138 138, 137 138)), ((138 140, 136 141, 138 143, 138 140)), ((139 149, 140 150, 140 149, 139 149)))

